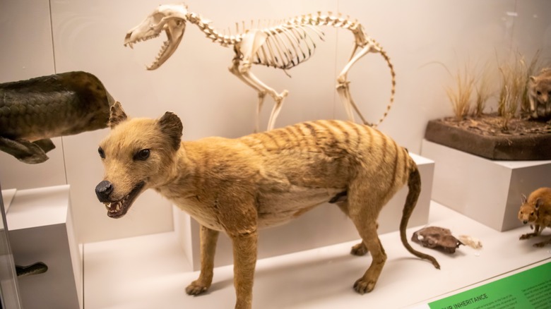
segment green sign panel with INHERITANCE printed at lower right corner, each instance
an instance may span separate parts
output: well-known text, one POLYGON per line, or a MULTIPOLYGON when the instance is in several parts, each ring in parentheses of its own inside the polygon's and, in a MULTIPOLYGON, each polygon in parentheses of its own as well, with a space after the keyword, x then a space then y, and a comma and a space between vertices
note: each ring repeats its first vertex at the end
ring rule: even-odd
POLYGON ((429 303, 431 309, 551 308, 551 262, 429 303))

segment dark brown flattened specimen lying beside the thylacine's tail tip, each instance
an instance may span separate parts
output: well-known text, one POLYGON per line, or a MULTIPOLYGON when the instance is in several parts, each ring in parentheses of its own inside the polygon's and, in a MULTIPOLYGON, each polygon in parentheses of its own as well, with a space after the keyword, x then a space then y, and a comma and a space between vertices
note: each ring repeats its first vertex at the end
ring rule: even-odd
POLYGON ((427 248, 439 248, 446 253, 455 253, 456 248, 463 245, 461 241, 451 235, 449 229, 438 226, 427 226, 413 233, 411 240, 427 248))

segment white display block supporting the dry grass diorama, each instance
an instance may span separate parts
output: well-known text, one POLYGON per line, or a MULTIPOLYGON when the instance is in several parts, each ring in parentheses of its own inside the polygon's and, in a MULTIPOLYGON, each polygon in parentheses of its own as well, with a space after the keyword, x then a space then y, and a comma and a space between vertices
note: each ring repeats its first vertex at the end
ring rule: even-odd
POLYGON ((521 194, 551 186, 551 161, 492 161, 428 140, 421 153, 437 162, 432 200, 497 231, 522 226, 521 194))

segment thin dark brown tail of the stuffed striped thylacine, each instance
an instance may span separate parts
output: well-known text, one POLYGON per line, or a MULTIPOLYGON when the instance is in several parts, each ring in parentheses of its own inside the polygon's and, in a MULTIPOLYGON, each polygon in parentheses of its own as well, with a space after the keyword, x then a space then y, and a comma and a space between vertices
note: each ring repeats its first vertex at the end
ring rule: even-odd
POLYGON ((411 213, 417 204, 417 198, 419 198, 419 193, 421 192, 421 175, 419 174, 419 169, 417 165, 413 162, 413 159, 410 159, 410 163, 413 164, 410 166, 410 176, 408 179, 408 197, 405 198, 405 205, 403 207, 402 220, 400 222, 400 238, 403 243, 403 246, 408 249, 408 251, 424 260, 429 260, 432 262, 432 265, 437 269, 440 269, 440 265, 437 260, 432 257, 432 255, 427 255, 425 253, 420 253, 419 251, 413 249, 408 243, 408 238, 405 235, 405 229, 408 227, 408 221, 411 217, 411 213))

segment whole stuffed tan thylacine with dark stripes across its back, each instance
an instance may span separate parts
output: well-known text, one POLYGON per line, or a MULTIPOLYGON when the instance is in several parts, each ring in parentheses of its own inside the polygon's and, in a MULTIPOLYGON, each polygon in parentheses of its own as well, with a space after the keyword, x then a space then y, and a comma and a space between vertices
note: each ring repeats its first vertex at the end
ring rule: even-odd
POLYGON ((284 224, 330 201, 350 217, 362 237, 352 253, 372 254, 372 265, 354 285, 359 293, 372 291, 386 260, 377 217, 406 183, 410 190, 400 226, 402 242, 439 267, 434 257, 411 248, 405 236, 420 193, 417 166, 407 150, 374 128, 309 121, 237 139, 182 142, 174 150, 174 140, 182 134, 174 114, 113 126, 100 145, 105 178, 98 185, 112 192, 109 197, 98 193, 98 198, 111 217, 122 217, 131 204, 126 200, 153 188, 201 224, 201 274, 187 287, 189 294, 211 286, 215 243, 223 231, 234 246, 236 308, 250 308, 257 229, 284 224), (144 149, 146 159, 140 157, 144 149), (119 207, 124 210, 120 216, 119 207))

